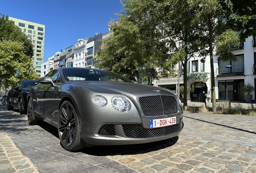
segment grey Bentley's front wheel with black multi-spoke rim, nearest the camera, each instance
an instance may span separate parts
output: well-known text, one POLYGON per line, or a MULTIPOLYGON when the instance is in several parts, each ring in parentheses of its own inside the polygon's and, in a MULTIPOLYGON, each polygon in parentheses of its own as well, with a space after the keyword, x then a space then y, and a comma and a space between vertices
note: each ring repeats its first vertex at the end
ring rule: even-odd
POLYGON ((81 125, 72 103, 64 101, 58 117, 58 134, 60 145, 68 151, 76 151, 85 147, 81 139, 81 125))

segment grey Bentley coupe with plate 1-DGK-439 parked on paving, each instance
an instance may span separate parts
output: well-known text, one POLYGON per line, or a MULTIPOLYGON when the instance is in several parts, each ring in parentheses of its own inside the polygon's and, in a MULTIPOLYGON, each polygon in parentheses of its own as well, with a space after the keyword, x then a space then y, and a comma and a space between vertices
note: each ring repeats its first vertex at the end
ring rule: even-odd
POLYGON ((29 125, 56 127, 68 151, 165 140, 184 127, 172 91, 93 68, 58 68, 41 77, 29 91, 27 116, 29 125))

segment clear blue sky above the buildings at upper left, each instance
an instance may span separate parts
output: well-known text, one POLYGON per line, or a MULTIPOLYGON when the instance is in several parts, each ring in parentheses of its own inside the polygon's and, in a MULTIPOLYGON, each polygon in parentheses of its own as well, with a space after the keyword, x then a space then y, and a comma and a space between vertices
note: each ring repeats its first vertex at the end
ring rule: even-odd
POLYGON ((60 50, 108 31, 121 13, 120 0, 2 0, 0 13, 45 25, 44 61, 60 50))

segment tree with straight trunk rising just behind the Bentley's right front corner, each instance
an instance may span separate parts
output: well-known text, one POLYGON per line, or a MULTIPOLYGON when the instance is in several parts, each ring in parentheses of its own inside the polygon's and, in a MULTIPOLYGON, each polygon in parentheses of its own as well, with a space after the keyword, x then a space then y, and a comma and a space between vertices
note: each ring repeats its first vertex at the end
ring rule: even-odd
MULTIPOLYGON (((188 0, 157 2, 157 17, 161 21, 159 28, 163 30, 164 40, 171 50, 165 65, 173 66, 181 62, 184 69, 184 86, 187 86, 188 60, 199 50, 200 27, 194 20, 198 6, 190 6, 188 0)), ((184 87, 184 93, 187 93, 187 87, 184 87)), ((187 95, 184 95, 184 106, 186 105, 187 95)))

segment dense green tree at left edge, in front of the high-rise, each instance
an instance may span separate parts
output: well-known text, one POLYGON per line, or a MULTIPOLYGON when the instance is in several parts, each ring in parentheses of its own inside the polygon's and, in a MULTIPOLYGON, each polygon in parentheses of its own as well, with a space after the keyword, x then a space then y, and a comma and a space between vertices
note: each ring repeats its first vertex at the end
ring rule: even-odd
POLYGON ((17 82, 16 70, 19 68, 21 80, 38 79, 32 69, 33 47, 31 40, 21 29, 10 21, 8 16, 0 18, 0 85, 7 88, 17 82))

